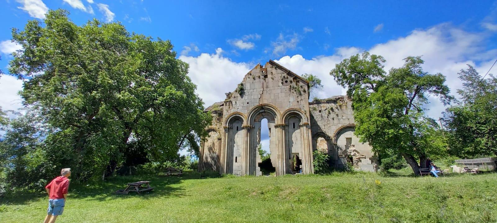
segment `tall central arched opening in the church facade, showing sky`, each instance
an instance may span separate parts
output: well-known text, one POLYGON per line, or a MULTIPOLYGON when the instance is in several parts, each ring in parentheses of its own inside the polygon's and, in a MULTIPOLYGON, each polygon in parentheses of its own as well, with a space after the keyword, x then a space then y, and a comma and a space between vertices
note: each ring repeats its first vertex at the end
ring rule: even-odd
MULTIPOLYGON (((274 131, 274 130, 273 130, 274 131)), ((260 142, 257 147, 260 162, 258 161, 257 166, 260 169, 262 175, 270 175, 276 171, 276 168, 271 163, 271 128, 269 127, 269 122, 267 118, 260 120, 260 142)))

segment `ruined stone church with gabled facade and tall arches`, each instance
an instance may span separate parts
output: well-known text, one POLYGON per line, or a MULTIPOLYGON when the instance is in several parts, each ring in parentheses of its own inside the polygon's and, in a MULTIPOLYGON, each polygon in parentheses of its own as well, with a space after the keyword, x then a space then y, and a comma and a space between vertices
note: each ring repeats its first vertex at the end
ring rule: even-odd
POLYGON ((261 121, 269 129, 270 163, 276 175, 313 173, 313 151, 331 167, 376 170, 376 157, 354 133, 351 101, 333 96, 309 102, 309 82, 276 62, 258 64, 226 99, 208 107, 213 116, 201 141, 199 170, 262 175, 258 152, 261 121))

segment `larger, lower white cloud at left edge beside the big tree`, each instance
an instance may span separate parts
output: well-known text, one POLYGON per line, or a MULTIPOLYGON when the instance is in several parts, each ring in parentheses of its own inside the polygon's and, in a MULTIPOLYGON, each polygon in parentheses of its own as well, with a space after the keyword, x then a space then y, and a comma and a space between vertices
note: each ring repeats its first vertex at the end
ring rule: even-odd
POLYGON ((17 110, 22 107, 22 99, 17 94, 22 89, 22 80, 14 76, 0 77, 0 107, 2 110, 17 110))

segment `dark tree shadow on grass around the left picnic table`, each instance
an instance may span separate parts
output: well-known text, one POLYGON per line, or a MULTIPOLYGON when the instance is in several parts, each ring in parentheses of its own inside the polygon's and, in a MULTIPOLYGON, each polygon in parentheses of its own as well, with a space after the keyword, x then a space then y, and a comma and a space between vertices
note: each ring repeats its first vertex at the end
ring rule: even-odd
MULTIPOLYGON (((107 179, 103 182, 75 182, 69 186, 68 199, 88 199, 94 201, 108 201, 113 199, 126 199, 130 197, 139 197, 144 200, 150 198, 169 198, 182 197, 185 190, 178 186, 184 180, 214 178, 216 175, 203 175, 198 172, 185 172, 182 176, 159 176, 156 174, 149 175, 131 175, 117 176, 107 179), (138 194, 129 192, 129 194, 117 195, 115 191, 124 190, 128 183, 137 181, 150 181, 150 186, 154 190, 138 194)), ((40 199, 48 199, 46 193, 32 193, 22 195, 6 195, 1 198, 0 205, 22 205, 28 202, 36 202, 40 199)))

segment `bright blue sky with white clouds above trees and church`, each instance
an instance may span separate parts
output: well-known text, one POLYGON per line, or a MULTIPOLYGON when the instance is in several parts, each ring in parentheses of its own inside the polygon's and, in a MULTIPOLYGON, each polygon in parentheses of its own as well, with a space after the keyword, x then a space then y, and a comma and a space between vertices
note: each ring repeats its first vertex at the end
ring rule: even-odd
MULTIPOLYGON (((206 106, 257 63, 269 59, 296 74, 316 74, 325 88, 313 96, 343 94, 328 74, 344 58, 365 50, 386 58, 385 69, 423 55, 424 69, 447 76, 455 94, 457 72, 471 64, 485 74, 497 58, 497 3, 478 1, 163 1, 2 0, 0 69, 7 72, 10 29, 64 8, 77 24, 120 21, 128 31, 169 39, 206 106)), ((495 73, 497 68, 494 67, 495 73)), ((0 78, 0 106, 20 107, 21 81, 0 78)), ((428 115, 445 109, 430 98, 428 115)))

